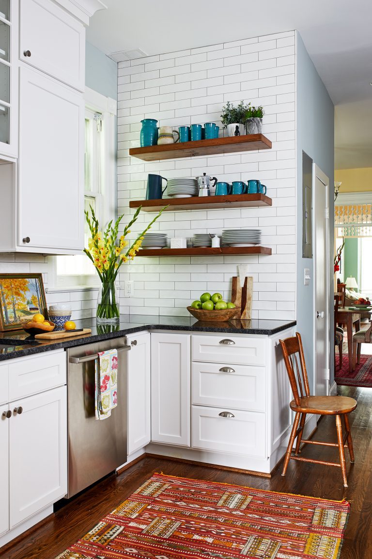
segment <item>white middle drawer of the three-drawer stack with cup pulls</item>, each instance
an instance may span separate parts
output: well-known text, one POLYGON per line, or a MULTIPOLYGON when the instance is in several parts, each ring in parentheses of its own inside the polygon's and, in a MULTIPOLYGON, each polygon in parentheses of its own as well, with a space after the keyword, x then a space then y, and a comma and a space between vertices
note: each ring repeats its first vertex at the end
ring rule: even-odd
POLYGON ((192 404, 265 411, 266 369, 192 363, 192 404))

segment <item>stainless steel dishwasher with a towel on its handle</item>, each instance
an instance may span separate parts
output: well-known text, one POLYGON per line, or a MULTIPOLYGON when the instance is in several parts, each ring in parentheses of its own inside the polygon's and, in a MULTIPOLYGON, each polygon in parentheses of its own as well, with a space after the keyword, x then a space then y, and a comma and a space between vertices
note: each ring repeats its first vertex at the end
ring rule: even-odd
POLYGON ((127 345, 126 338, 67 349, 69 429, 69 499, 127 461, 127 345), (118 350, 118 405, 111 416, 94 413, 95 359, 98 352, 118 350))

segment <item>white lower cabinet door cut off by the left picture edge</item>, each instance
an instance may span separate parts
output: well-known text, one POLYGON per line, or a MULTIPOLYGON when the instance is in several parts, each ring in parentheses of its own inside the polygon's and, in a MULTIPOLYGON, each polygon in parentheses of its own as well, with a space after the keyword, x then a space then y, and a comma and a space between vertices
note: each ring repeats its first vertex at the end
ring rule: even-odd
POLYGON ((3 412, 8 404, 0 406, 0 536, 9 530, 9 419, 3 412))

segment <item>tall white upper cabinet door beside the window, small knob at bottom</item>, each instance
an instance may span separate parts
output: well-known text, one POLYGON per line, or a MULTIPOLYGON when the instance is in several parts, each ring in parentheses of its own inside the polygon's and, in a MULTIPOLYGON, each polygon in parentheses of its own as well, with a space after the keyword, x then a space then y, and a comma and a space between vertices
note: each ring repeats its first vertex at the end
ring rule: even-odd
POLYGON ((50 253, 83 249, 83 164, 83 96, 20 68, 20 247, 50 253))

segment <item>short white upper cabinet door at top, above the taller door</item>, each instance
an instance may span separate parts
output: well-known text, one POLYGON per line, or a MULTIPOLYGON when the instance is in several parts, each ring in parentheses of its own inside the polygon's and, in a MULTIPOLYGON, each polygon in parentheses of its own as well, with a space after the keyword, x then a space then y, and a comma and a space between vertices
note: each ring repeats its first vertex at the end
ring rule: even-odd
POLYGON ((83 24, 50 0, 21 0, 20 60, 84 91, 83 24))

